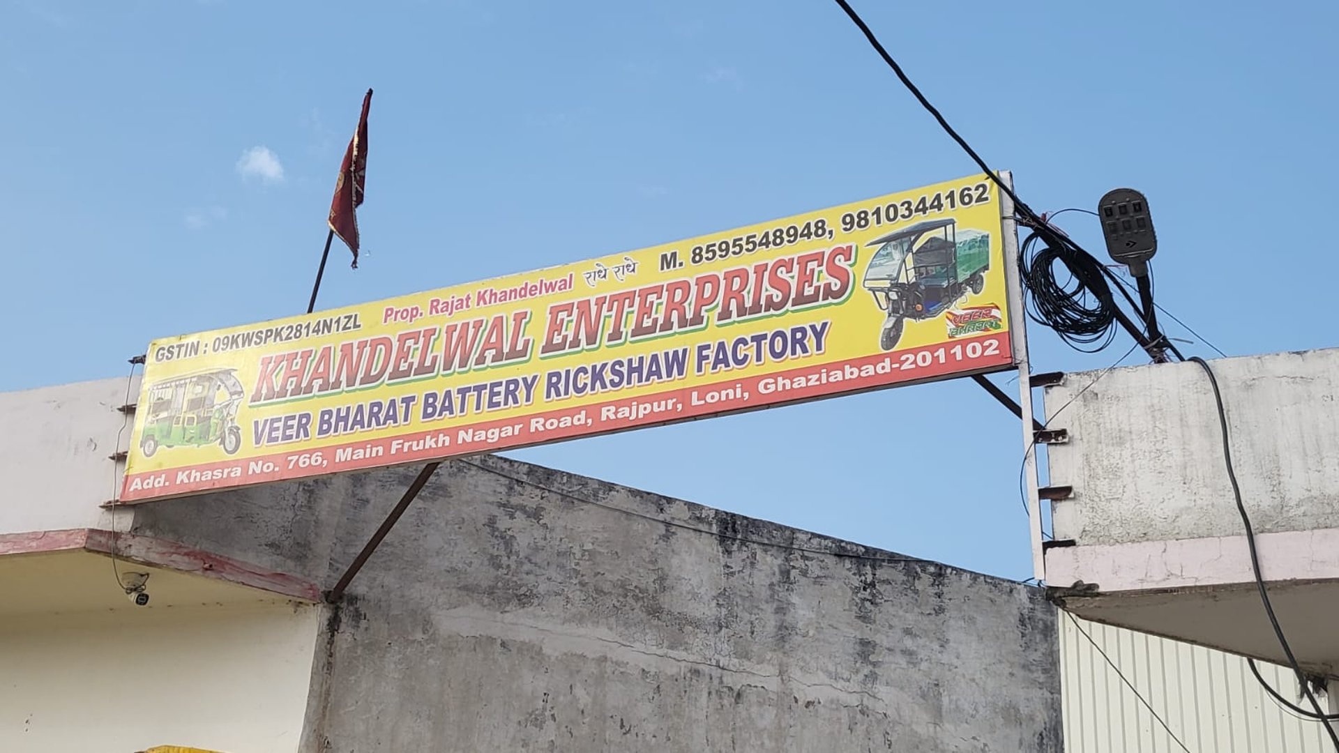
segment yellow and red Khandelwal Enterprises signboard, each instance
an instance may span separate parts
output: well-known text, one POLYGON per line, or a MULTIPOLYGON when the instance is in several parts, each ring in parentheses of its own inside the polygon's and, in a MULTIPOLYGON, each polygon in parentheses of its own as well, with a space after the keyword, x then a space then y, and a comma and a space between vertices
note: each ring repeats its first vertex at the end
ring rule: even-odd
POLYGON ((986 176, 150 344, 122 501, 1012 364, 986 176))

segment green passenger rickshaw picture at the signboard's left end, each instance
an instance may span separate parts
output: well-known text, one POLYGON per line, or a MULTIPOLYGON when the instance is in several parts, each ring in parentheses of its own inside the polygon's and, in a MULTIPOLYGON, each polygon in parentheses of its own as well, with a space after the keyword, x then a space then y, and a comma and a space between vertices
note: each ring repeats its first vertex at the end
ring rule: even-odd
POLYGON ((158 448, 218 442, 234 454, 242 446, 237 406, 246 391, 236 368, 214 368, 165 379, 149 389, 149 413, 139 437, 145 457, 158 448))

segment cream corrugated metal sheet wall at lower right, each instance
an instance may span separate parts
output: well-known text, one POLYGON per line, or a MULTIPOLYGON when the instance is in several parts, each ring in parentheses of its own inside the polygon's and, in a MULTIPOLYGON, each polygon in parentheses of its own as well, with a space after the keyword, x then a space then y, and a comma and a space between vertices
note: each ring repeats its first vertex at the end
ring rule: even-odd
MULTIPOLYGON (((1332 753, 1318 722, 1303 720, 1265 695, 1245 659, 1180 640, 1166 640, 1060 615, 1060 697, 1069 753, 1180 753, 1162 729, 1086 638, 1082 627, 1192 753, 1332 753)), ((1261 663, 1260 674, 1295 701, 1296 681, 1284 667, 1261 663)), ((1324 701, 1322 699, 1322 705, 1324 701)))

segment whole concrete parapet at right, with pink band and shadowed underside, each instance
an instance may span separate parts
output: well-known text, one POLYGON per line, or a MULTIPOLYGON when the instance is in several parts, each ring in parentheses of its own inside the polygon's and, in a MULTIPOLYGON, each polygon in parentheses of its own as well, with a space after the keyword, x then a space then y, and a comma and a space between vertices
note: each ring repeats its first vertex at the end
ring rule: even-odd
MULTIPOLYGON (((1261 579, 1297 661, 1339 667, 1339 350, 1210 362, 1261 579)), ((1197 363, 1069 374, 1046 391, 1058 540, 1046 581, 1085 618, 1285 661, 1256 588, 1209 376, 1197 363), (1078 587, 1078 588, 1075 588, 1078 587)))

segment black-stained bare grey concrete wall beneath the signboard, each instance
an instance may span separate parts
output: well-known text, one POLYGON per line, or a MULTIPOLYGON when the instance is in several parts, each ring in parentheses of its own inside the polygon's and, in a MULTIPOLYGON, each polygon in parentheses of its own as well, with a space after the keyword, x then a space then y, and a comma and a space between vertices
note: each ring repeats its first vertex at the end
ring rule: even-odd
MULTIPOLYGON (((478 462, 513 480, 443 465, 331 611, 305 750, 1060 749, 1038 590, 478 462)), ((135 531, 328 586, 416 470, 151 502, 135 531)))

